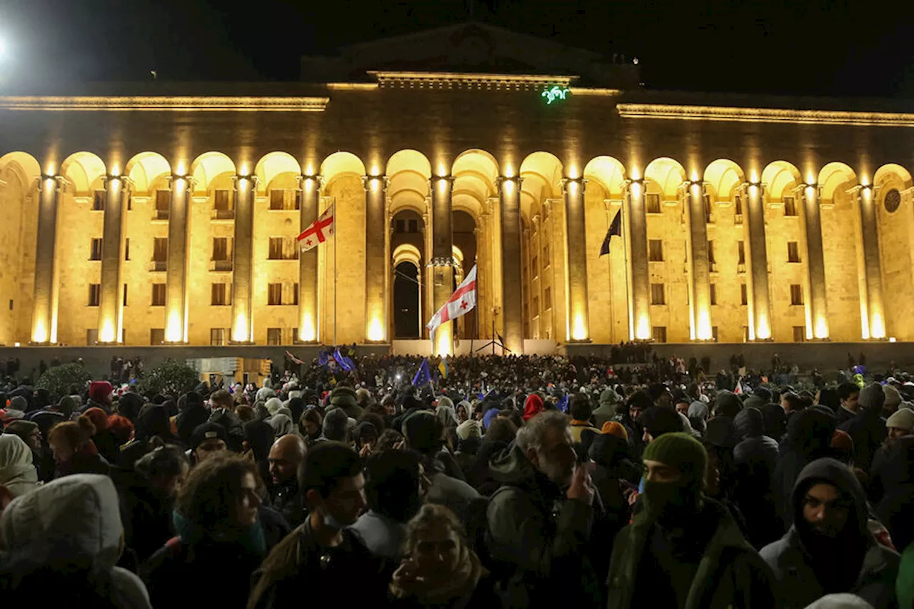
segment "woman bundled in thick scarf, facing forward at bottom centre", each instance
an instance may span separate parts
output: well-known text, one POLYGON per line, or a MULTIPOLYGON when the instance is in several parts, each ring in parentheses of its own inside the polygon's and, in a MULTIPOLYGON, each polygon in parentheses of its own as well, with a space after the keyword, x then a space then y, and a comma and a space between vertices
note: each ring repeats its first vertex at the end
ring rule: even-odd
POLYGON ((460 521, 427 504, 409 521, 408 556, 390 582, 391 607, 497 607, 488 572, 463 536, 460 521))

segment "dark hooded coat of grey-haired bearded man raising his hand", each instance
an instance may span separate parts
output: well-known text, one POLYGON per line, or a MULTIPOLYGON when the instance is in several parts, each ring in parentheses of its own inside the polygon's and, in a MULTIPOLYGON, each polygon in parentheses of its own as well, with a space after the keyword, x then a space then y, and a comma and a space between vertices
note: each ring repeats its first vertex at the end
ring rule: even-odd
POLYGON ((584 554, 593 508, 565 497, 516 444, 496 456, 489 469, 502 483, 487 509, 486 540, 502 606, 592 606, 600 585, 584 554), (574 585, 556 585, 560 581, 574 585))

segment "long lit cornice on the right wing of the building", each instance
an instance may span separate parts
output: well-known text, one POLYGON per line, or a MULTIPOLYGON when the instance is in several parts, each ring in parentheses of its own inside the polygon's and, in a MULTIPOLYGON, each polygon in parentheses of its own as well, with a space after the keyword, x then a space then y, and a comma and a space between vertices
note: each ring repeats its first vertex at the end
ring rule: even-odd
POLYGON ((620 103, 616 105, 616 109, 622 118, 632 119, 914 127, 914 113, 901 112, 785 110, 779 108, 731 108, 654 103, 620 103))

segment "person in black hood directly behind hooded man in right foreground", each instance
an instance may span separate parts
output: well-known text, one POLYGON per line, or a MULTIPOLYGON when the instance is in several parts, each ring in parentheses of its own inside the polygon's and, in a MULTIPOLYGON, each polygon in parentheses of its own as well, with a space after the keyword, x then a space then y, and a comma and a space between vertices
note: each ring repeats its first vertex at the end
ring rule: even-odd
POLYGON ((772 481, 775 505, 781 512, 784 529, 793 521, 791 501, 797 476, 806 465, 832 454, 835 422, 829 409, 813 406, 797 412, 787 425, 787 437, 779 448, 772 481))

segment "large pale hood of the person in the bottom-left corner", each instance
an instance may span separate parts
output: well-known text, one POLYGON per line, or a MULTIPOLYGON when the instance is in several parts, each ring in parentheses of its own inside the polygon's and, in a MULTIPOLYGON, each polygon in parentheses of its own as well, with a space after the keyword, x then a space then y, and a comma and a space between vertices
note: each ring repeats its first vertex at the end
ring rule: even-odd
POLYGON ((16 497, 0 517, 4 549, 33 560, 90 558, 111 568, 121 557, 122 535, 117 491, 107 475, 58 478, 16 497))

